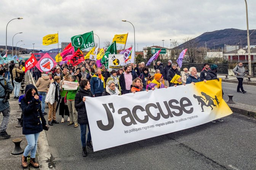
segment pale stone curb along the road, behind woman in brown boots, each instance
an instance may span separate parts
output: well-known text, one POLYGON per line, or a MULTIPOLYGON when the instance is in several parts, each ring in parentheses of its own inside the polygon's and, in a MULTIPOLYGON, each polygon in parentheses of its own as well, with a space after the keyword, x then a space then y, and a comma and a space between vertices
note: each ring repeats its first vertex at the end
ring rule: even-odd
MULTIPOLYGON (((35 81, 32 78, 31 72, 29 72, 28 78, 29 84, 33 84, 35 86, 35 81)), ((40 132, 40 135, 38 137, 37 152, 39 157, 38 162, 40 164, 40 170, 55 169, 55 165, 53 163, 53 156, 50 152, 50 147, 48 144, 45 130, 40 132)))

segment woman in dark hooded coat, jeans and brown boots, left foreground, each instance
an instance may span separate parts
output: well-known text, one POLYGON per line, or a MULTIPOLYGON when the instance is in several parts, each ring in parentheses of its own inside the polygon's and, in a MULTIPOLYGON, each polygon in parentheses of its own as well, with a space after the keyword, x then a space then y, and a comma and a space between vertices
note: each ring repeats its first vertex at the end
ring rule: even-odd
POLYGON ((21 159, 23 168, 27 168, 27 156, 30 153, 30 162, 34 168, 39 168, 39 164, 35 161, 37 152, 37 140, 40 132, 47 129, 45 118, 43 117, 42 107, 40 104, 42 96, 38 96, 37 88, 32 85, 26 85, 25 94, 19 97, 21 109, 23 112, 22 134, 27 139, 27 146, 21 159))

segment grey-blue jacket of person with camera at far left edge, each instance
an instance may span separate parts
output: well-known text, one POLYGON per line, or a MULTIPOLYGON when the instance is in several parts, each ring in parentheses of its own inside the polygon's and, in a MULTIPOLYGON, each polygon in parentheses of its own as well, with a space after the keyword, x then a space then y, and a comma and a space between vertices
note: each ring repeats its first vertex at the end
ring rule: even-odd
MULTIPOLYGON (((5 79, 3 76, 0 76, 0 82, 2 83, 2 85, 5 85, 5 81, 6 81, 7 88, 13 91, 13 86, 11 85, 9 80, 5 79)), ((0 98, 0 112, 2 112, 3 110, 10 107, 10 104, 9 104, 9 101, 3 103, 3 99, 5 97, 5 89, 1 85, 0 85, 0 97, 2 97, 0 98)))

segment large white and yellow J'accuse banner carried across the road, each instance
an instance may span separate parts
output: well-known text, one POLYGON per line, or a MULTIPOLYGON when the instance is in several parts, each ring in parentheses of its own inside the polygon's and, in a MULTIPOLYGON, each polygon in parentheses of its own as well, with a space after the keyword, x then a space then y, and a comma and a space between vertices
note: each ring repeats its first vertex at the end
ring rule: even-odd
POLYGON ((222 99, 221 79, 122 96, 86 97, 85 106, 94 151, 180 131, 232 114, 222 99))

